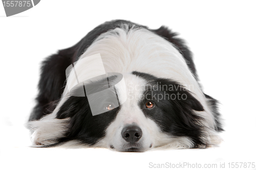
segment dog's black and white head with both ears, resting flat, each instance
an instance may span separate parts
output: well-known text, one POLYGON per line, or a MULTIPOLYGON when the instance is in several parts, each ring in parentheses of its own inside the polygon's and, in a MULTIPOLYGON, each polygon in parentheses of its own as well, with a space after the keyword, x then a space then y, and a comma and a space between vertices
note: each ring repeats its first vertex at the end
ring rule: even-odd
MULTIPOLYGON (((126 88, 115 86, 115 90, 91 97, 101 114, 93 115, 87 96, 69 96, 56 113, 56 123, 48 125, 51 130, 38 136, 37 143, 55 145, 73 140, 117 151, 145 151, 166 144, 172 148, 206 145, 203 118, 195 113, 204 108, 188 89, 173 80, 137 71, 123 78, 126 88)), ((115 79, 109 77, 110 86, 115 79)), ((102 82, 90 82, 90 87, 100 91, 108 85, 102 82)))

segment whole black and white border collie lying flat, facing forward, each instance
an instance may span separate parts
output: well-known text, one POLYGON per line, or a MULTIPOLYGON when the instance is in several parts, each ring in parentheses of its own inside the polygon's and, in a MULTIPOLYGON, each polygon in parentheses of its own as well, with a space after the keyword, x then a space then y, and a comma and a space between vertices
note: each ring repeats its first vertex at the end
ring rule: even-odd
POLYGON ((151 30, 125 20, 105 22, 74 46, 48 57, 38 88, 28 122, 38 147, 143 152, 207 148, 221 141, 218 102, 203 93, 188 47, 166 27, 151 30), (74 95, 69 87, 78 84, 78 77, 95 77, 88 69, 91 61, 84 60, 95 55, 108 81, 104 76, 84 81, 73 90, 84 93, 74 95), (67 73, 69 66, 78 73, 67 73), (93 88, 112 90, 91 99, 93 88))

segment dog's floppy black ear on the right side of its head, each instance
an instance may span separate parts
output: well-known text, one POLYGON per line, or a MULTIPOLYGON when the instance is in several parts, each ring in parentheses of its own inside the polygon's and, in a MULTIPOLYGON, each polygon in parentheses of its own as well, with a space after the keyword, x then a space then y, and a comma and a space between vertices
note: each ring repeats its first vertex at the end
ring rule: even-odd
POLYGON ((202 104, 187 89, 175 91, 174 93, 177 94, 177 92, 179 92, 180 98, 177 96, 175 100, 170 101, 173 103, 174 111, 172 113, 174 123, 170 125, 170 129, 175 129, 173 135, 189 137, 193 141, 195 148, 206 147, 207 143, 203 139, 205 134, 202 126, 204 118, 197 113, 197 111, 204 111, 202 104))

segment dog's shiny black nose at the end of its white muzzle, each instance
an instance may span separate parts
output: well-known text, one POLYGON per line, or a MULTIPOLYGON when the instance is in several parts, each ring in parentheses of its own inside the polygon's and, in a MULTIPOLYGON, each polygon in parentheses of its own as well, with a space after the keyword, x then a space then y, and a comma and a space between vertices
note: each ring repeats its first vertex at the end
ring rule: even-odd
POLYGON ((129 125, 123 128, 122 137, 130 143, 137 142, 142 136, 142 130, 136 125, 129 125))

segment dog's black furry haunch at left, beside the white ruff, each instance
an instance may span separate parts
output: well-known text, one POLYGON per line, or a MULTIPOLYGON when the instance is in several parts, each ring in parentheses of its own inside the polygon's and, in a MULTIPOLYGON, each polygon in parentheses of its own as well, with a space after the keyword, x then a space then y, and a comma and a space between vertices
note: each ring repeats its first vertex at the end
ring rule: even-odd
POLYGON ((40 119, 55 109, 66 84, 66 68, 72 64, 72 57, 76 48, 76 46, 73 46, 60 50, 57 54, 46 58, 42 62, 38 83, 39 93, 29 121, 40 119))

